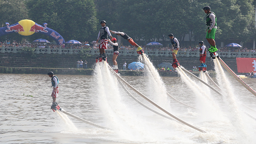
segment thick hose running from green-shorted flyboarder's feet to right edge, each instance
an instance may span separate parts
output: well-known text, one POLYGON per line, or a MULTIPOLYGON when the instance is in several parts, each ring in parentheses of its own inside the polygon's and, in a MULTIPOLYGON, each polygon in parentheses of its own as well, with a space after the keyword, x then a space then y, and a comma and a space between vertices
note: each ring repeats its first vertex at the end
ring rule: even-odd
POLYGON ((227 72, 230 73, 230 75, 233 76, 233 78, 235 78, 242 86, 244 86, 247 90, 249 90, 254 96, 256 96, 256 92, 250 87, 248 86, 241 78, 239 78, 239 76, 236 75, 235 72, 233 72, 226 63, 224 63, 224 61, 221 58, 218 58, 216 60, 219 60, 219 62, 221 63, 221 66, 224 67, 224 69, 227 70, 227 72))

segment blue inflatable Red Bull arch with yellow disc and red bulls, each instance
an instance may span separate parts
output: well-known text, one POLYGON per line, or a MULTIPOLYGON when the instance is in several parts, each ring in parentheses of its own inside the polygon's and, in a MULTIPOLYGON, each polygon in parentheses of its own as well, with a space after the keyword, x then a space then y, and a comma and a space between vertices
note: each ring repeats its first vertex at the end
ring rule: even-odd
POLYGON ((5 27, 0 28, 0 36, 10 33, 19 33, 20 35, 33 35, 34 33, 41 33, 51 37, 56 43, 63 46, 65 43, 64 38, 55 30, 47 28, 47 23, 43 23, 43 26, 35 23, 32 20, 20 20, 18 23, 10 25, 6 23, 5 27))

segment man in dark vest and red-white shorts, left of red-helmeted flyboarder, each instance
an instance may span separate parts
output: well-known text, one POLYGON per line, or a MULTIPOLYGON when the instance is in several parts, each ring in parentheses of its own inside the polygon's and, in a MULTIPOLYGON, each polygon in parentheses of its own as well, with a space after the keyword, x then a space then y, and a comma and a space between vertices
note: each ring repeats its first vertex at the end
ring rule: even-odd
POLYGON ((107 55, 106 55, 105 49, 107 49, 107 47, 108 47, 108 35, 111 37, 111 39, 113 37, 111 36, 111 33, 109 32, 108 26, 106 26, 106 21, 102 20, 100 22, 100 24, 102 25, 102 28, 99 29, 99 34, 98 34, 98 38, 96 40, 96 43, 98 43, 98 41, 100 39, 99 58, 102 57, 102 60, 106 60, 107 55))

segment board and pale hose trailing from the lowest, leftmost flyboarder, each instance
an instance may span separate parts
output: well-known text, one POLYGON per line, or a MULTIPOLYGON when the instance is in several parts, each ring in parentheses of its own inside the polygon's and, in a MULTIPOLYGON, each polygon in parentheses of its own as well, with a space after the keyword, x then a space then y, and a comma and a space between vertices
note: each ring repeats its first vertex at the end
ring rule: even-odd
POLYGON ((107 127, 103 127, 103 126, 100 126, 100 125, 98 125, 98 124, 94 124, 94 123, 92 123, 92 122, 90 122, 90 121, 86 121, 86 120, 84 120, 84 119, 82 119, 82 118, 79 118, 79 117, 76 116, 76 115, 72 115, 71 113, 66 112, 64 109, 62 109, 59 105, 56 106, 56 109, 52 109, 52 111, 53 111, 53 112, 56 111, 60 116, 61 116, 61 114, 60 114, 59 112, 63 112, 64 114, 69 115, 69 116, 71 116, 72 118, 76 118, 77 120, 82 121, 82 122, 84 122, 84 123, 86 123, 86 124, 90 124, 90 125, 92 125, 92 126, 99 127, 99 128, 101 128, 101 129, 105 129, 105 130, 110 130, 110 129, 107 128, 107 127))

